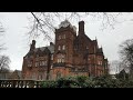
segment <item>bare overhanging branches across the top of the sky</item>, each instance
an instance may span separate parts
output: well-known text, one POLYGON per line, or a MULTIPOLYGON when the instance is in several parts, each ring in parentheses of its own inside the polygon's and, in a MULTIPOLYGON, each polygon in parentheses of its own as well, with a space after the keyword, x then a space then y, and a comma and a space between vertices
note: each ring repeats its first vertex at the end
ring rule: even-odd
POLYGON ((94 18, 101 21, 103 29, 111 27, 114 28, 117 23, 116 18, 122 16, 122 12, 31 12, 33 20, 30 26, 29 37, 38 38, 40 34, 44 39, 52 41, 50 33, 54 33, 57 22, 64 21, 80 21, 84 18, 94 18))

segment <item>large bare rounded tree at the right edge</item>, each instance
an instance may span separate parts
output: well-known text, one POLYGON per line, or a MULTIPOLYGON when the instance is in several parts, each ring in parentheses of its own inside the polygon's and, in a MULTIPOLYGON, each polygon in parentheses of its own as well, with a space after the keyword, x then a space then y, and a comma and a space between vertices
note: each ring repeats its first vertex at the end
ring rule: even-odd
POLYGON ((120 56, 123 63, 129 67, 131 78, 133 78, 133 39, 125 40, 120 44, 120 56))

